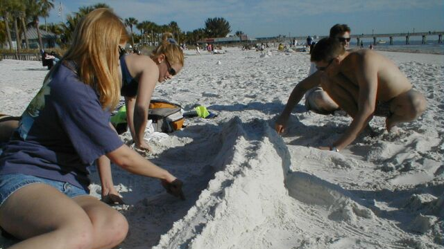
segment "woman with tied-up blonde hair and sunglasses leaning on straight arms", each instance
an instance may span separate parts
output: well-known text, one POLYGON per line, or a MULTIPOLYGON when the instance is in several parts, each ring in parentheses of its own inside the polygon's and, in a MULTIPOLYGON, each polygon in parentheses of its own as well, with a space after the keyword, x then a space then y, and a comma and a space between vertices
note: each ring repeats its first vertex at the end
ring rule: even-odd
POLYGON ((125 97, 126 120, 138 149, 150 149, 144 140, 144 131, 155 85, 179 73, 183 64, 182 49, 171 33, 163 35, 162 44, 149 57, 136 54, 120 57, 121 95, 125 97))

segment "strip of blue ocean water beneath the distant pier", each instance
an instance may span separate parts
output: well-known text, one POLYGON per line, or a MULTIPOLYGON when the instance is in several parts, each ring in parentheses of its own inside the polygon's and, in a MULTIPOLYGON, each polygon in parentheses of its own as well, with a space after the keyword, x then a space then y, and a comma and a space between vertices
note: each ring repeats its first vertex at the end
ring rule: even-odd
MULTIPOLYGON (((393 45, 390 45, 388 39, 384 39, 385 44, 376 44, 375 50, 396 51, 406 53, 429 53, 444 55, 444 44, 438 44, 438 40, 427 41, 426 44, 421 44, 420 40, 411 40, 409 45, 405 44, 405 40, 393 41, 393 45)), ((373 39, 364 39, 364 48, 368 48, 370 44, 373 44, 373 39)), ((359 48, 355 42, 350 42, 350 48, 359 48)))

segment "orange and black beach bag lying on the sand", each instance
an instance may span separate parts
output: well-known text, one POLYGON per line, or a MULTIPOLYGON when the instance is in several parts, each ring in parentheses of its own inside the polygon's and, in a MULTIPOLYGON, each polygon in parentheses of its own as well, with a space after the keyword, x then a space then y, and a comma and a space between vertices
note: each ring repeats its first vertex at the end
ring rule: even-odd
POLYGON ((153 120, 154 131, 170 133, 182 129, 185 118, 180 105, 166 100, 151 100, 148 120, 153 120))

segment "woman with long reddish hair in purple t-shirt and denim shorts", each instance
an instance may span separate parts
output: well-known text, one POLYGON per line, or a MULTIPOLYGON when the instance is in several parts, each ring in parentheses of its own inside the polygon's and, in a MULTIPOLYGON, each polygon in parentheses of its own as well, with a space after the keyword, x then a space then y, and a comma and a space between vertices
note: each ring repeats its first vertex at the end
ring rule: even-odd
POLYGON ((181 196, 175 176, 123 145, 109 125, 121 86, 118 47, 128 37, 108 9, 80 19, 62 62, 2 147, 0 225, 21 240, 14 248, 114 248, 125 239, 125 217, 89 196, 87 167, 104 154, 181 196))

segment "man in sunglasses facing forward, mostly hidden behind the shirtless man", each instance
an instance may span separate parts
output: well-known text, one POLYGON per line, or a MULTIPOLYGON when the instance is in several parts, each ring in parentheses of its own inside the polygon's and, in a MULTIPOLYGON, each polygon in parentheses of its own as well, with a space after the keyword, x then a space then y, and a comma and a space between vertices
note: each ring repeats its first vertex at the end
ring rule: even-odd
MULTIPOLYGON (((343 44, 345 49, 348 49, 350 46, 350 27, 348 27, 347 24, 336 24, 330 28, 330 37, 337 39, 343 44)), ((310 47, 310 53, 312 49, 313 48, 310 47)), ((316 71, 316 65, 314 62, 311 62, 309 76, 316 73, 316 71)), ((316 76, 317 75, 310 79, 321 83, 321 80, 316 76)), ((339 106, 323 91, 321 86, 316 86, 305 93, 305 108, 319 114, 330 114, 338 110, 339 106)))

